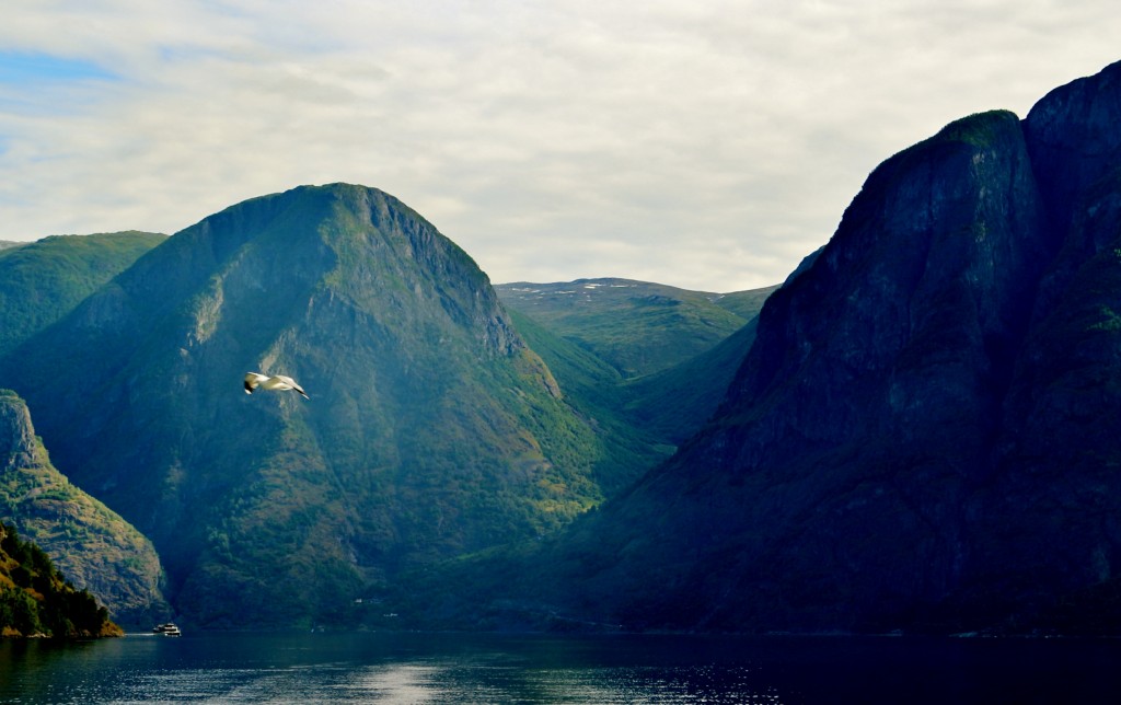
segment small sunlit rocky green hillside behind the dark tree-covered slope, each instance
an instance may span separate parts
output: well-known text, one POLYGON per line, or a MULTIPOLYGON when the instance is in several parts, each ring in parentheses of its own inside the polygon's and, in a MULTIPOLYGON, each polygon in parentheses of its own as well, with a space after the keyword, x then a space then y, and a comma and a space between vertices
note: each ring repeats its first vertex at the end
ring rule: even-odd
POLYGON ((27 405, 0 389, 0 517, 121 623, 167 615, 151 541, 71 484, 35 436, 27 405))

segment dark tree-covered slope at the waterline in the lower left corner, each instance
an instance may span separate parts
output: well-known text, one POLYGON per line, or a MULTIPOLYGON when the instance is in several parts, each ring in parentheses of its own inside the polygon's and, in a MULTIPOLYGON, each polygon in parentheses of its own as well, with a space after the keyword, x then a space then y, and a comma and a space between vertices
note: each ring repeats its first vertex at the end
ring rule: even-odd
POLYGON ((121 637, 93 595, 76 590, 33 541, 0 522, 0 637, 121 637))

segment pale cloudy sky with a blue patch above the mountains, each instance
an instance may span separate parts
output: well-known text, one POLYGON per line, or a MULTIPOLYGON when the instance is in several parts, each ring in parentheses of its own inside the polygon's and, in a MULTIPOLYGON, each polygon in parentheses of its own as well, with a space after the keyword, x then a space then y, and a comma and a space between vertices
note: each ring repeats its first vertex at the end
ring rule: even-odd
POLYGON ((868 174, 1121 61, 1111 0, 0 0, 0 240, 345 182, 495 284, 780 282, 868 174))

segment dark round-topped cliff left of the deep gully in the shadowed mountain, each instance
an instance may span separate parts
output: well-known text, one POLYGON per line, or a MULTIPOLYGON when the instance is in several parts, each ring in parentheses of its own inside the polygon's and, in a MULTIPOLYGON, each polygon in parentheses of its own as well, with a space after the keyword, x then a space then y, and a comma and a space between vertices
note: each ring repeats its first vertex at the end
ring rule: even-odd
POLYGON ((1043 213, 1010 113, 953 123, 877 168, 813 266, 768 300, 715 420, 601 514, 619 562, 591 579, 636 588, 611 616, 942 622, 929 613, 961 586, 966 498, 988 474, 1050 254, 1043 213))

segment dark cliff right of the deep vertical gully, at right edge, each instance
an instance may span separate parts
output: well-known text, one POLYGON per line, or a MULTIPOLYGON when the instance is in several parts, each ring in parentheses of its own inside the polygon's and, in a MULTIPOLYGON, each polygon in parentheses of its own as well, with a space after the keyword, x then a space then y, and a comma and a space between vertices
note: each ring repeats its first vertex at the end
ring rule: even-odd
POLYGON ((1017 358, 991 488, 975 502, 967 588, 982 604, 1011 593, 1051 611, 1063 595, 1062 619, 1112 630, 1121 615, 1100 595, 1121 584, 1119 121, 1115 64, 1053 91, 1023 122, 1062 249, 1017 358))

